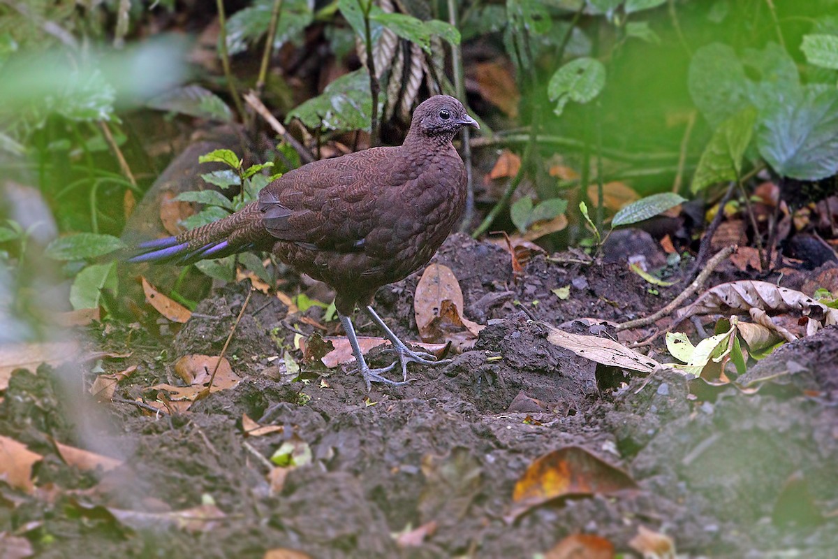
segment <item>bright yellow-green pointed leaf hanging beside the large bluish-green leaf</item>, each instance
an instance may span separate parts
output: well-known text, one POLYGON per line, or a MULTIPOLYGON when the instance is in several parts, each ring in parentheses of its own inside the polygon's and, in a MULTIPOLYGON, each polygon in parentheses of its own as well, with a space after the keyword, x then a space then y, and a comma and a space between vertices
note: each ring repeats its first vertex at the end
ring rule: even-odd
POLYGON ((742 155, 751 142, 757 111, 748 107, 716 128, 692 178, 692 192, 711 184, 737 180, 742 175, 742 155))

